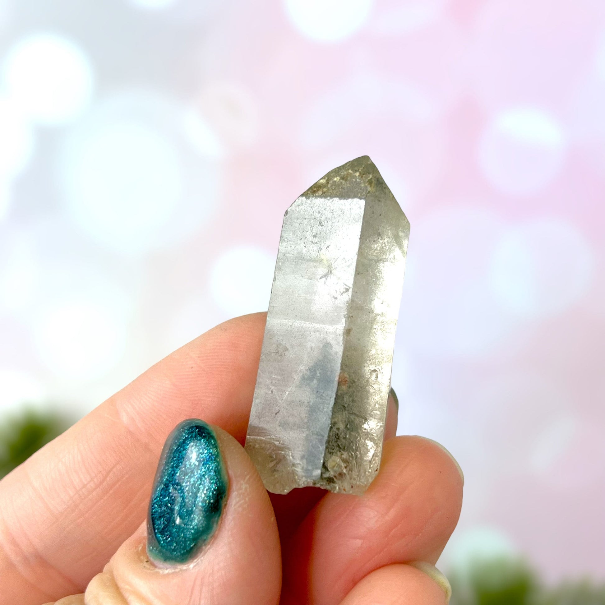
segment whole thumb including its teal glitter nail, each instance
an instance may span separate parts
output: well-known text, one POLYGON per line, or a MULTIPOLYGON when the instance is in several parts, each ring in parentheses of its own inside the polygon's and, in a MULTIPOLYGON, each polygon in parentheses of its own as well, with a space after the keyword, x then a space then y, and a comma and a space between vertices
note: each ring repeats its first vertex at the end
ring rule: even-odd
POLYGON ((166 440, 146 525, 90 581, 83 601, 276 605, 280 589, 280 540, 256 469, 229 434, 185 420, 166 440))

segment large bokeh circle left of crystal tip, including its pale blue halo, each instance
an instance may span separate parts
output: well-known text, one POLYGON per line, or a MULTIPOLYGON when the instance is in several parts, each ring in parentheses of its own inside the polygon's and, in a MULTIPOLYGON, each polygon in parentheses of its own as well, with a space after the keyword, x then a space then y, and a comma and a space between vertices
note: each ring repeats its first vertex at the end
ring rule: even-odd
POLYGON ((139 256, 182 243, 211 214, 220 168, 185 132, 188 110, 154 93, 108 97, 60 157, 64 203, 89 237, 139 256))

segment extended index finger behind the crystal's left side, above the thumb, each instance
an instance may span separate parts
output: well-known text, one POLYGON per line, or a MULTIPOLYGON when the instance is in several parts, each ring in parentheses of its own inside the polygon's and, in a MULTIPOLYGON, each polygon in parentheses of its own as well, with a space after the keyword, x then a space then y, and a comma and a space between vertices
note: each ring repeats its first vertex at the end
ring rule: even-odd
POLYGON ((145 518, 180 420, 244 440, 265 317, 232 319, 180 348, 0 482, 0 604, 83 591, 145 518))

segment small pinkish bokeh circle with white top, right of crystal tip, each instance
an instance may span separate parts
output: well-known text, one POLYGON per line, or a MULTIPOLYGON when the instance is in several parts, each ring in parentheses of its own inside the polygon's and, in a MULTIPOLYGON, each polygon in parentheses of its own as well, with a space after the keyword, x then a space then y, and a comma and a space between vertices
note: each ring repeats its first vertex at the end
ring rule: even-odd
POLYGON ((560 125, 535 108, 502 111, 479 142, 479 165, 499 191, 531 195, 561 168, 566 142, 560 125))

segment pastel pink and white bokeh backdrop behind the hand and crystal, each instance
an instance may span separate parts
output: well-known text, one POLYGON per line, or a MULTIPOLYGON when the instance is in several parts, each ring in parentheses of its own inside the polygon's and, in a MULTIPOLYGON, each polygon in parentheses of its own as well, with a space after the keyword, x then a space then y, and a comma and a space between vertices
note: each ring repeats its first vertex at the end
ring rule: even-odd
POLYGON ((0 0, 0 414, 266 309, 362 154, 411 222, 399 432, 465 471, 440 565, 602 580, 603 0, 0 0))

